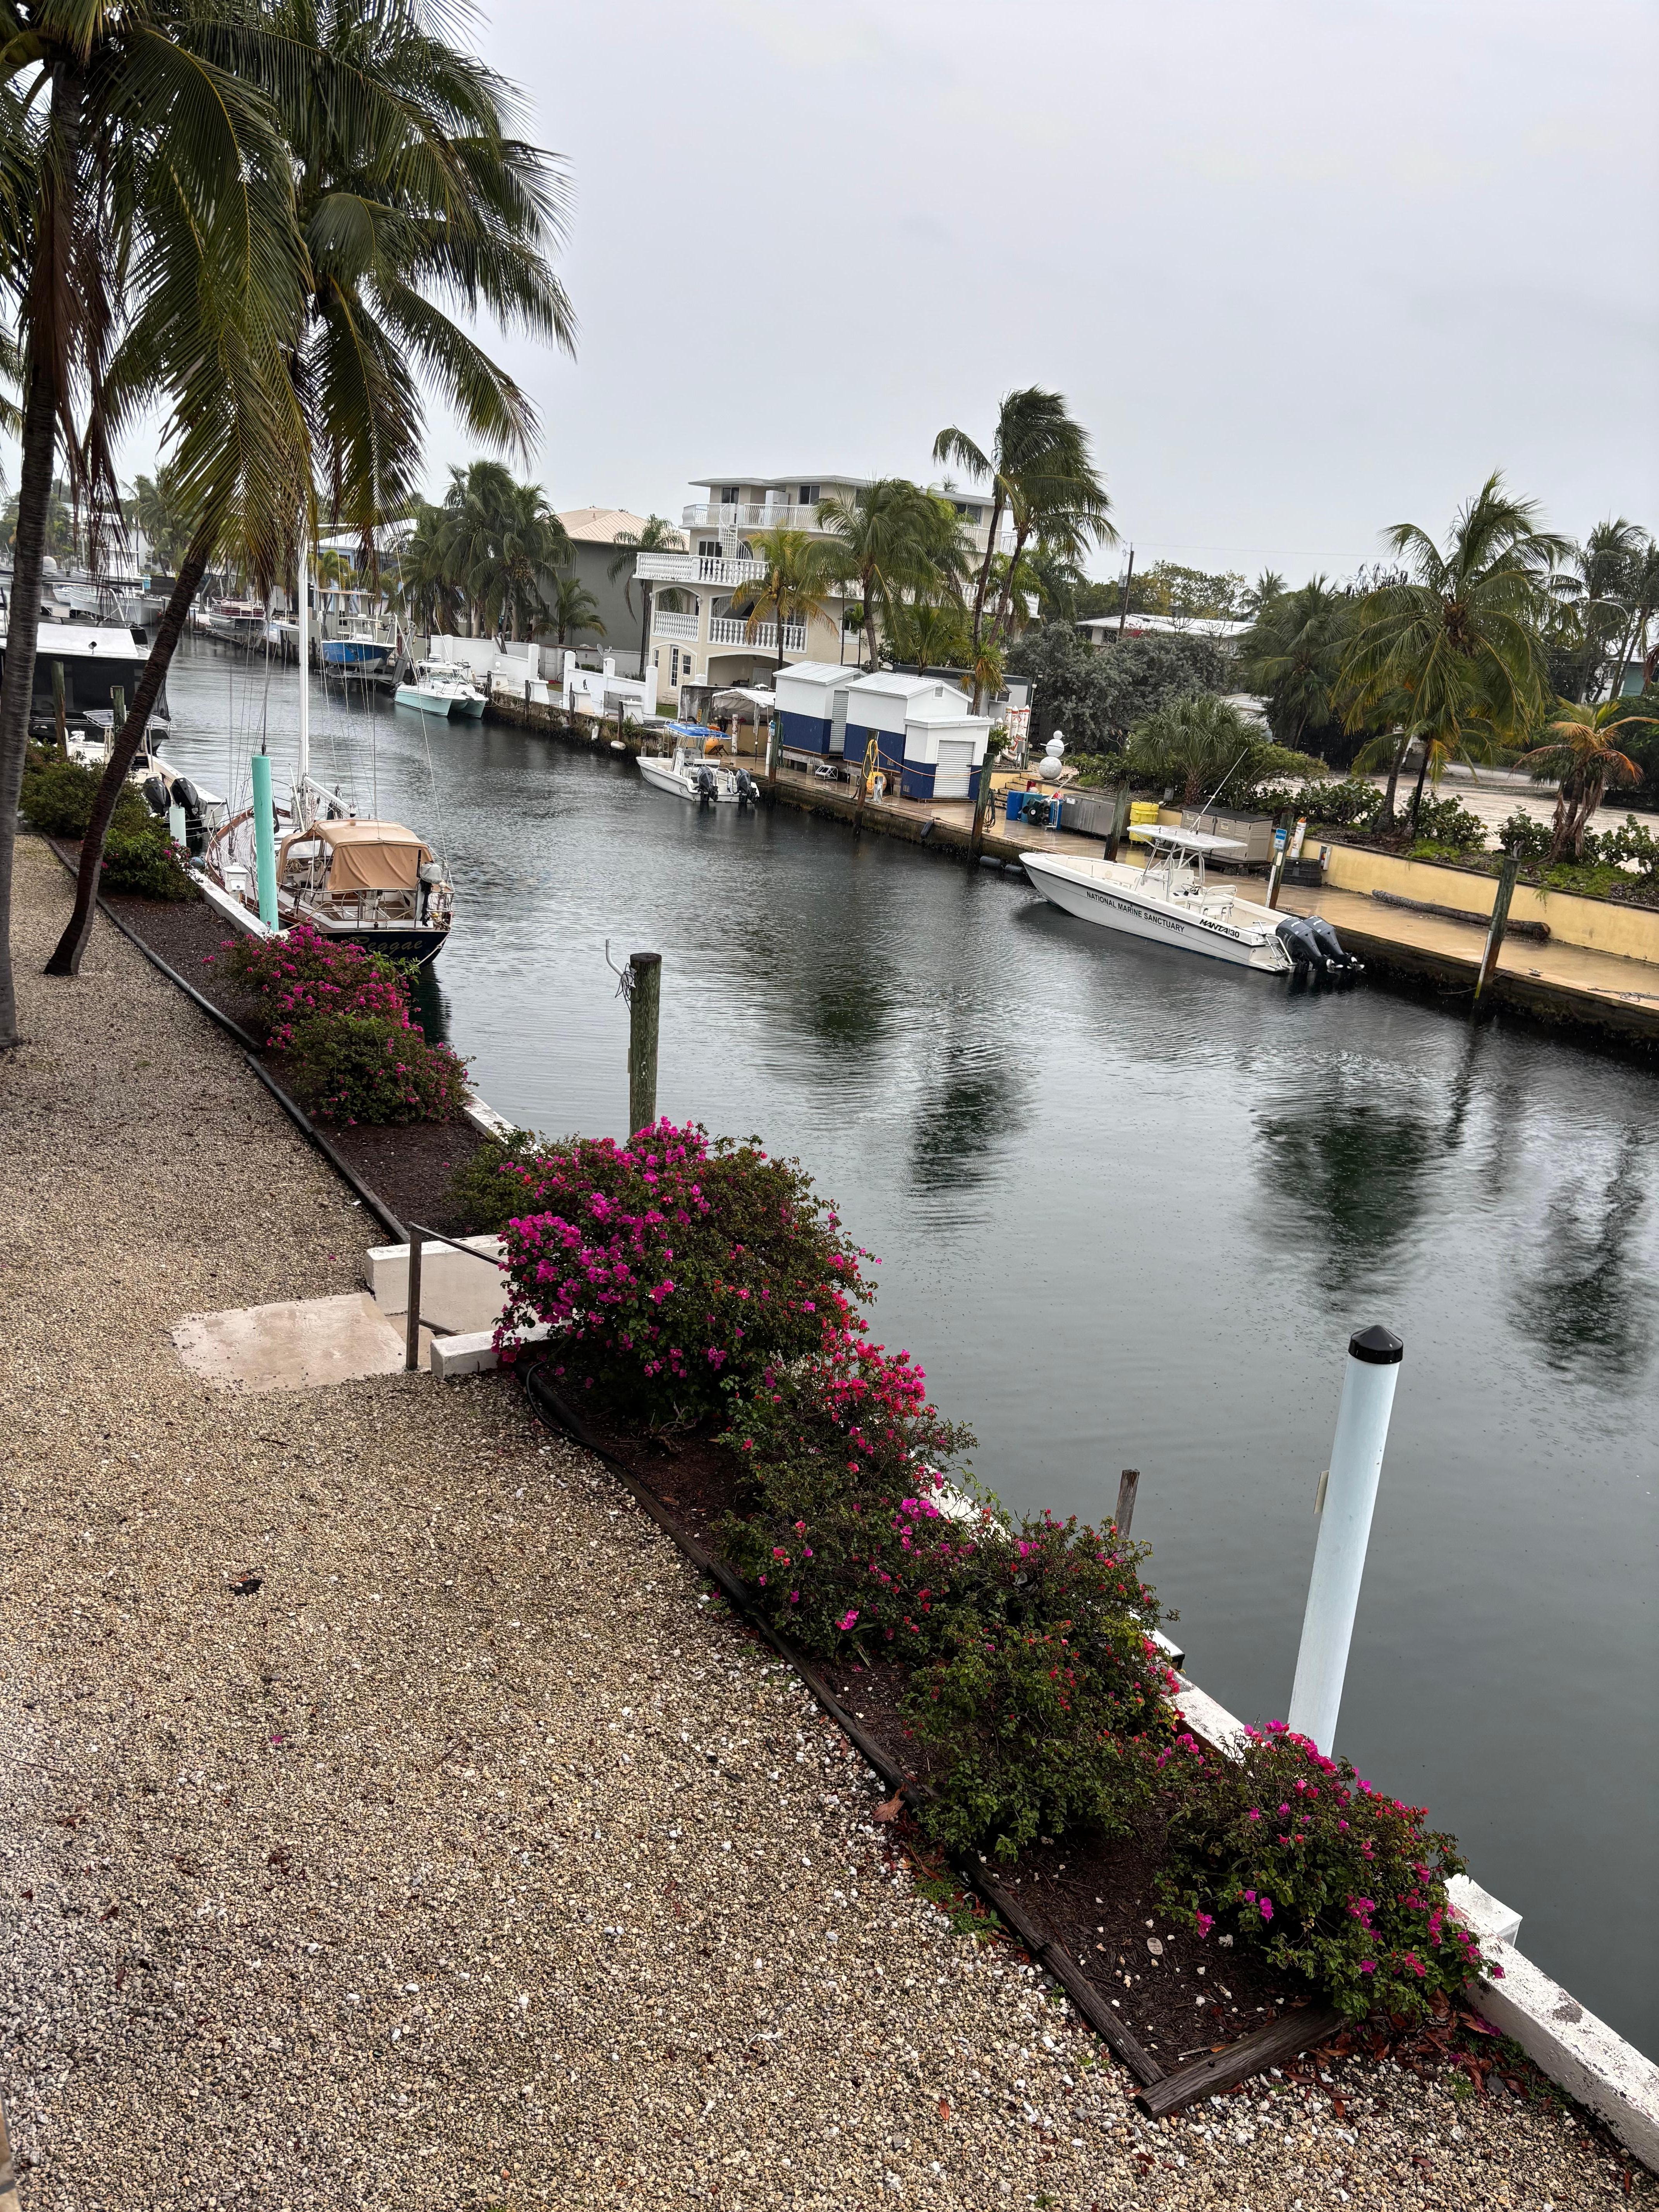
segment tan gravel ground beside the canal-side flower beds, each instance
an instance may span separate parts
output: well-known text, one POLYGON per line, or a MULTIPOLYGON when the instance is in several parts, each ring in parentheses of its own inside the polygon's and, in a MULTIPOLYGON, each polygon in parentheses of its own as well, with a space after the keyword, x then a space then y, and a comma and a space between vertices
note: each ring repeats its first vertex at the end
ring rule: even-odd
MULTIPOLYGON (((24 838, 0 1062, 0 2093, 24 2203, 1628 2203, 1506 2093, 1349 2066, 1155 2128, 874 1785, 502 1380, 215 1396, 186 1312, 361 1208, 24 838), (259 1577, 257 1590, 234 1582, 259 1577)), ((1632 2194, 1652 2203, 1641 2172, 1632 2194)))

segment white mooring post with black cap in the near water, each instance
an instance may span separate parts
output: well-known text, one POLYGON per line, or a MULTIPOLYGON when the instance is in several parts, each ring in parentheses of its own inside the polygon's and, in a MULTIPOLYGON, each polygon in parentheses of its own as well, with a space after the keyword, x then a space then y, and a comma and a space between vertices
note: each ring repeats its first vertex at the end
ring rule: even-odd
POLYGON ((1290 1692, 1290 1725, 1298 1736, 1312 1736, 1327 1759, 1343 1703, 1347 1646, 1354 1637, 1365 1546, 1371 1540, 1371 1509, 1402 1358, 1405 1345, 1389 1329, 1360 1329, 1349 1336, 1332 1464, 1318 1484, 1318 1544, 1307 1582, 1296 1686, 1290 1692))

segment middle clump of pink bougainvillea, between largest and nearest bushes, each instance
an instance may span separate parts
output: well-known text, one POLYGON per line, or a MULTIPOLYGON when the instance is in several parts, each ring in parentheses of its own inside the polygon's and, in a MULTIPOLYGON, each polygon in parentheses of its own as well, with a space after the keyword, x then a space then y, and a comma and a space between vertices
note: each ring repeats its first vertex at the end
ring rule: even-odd
POLYGON ((1170 1728, 1139 1546, 1009 1522, 914 1360, 856 1336, 765 1374, 726 1442, 750 1480, 726 1553, 772 1619, 843 1666, 905 1670, 929 1836, 1013 1856, 1075 1823, 1124 1832, 1170 1728))

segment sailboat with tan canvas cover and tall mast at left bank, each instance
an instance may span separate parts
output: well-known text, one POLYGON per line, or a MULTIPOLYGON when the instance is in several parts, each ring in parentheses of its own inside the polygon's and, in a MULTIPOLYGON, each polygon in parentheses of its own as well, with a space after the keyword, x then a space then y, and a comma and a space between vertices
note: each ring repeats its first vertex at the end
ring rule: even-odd
MULTIPOLYGON (((201 856, 201 896, 250 936, 299 922, 341 945, 414 960, 436 960, 449 936, 453 889, 431 847, 403 823, 361 821, 338 792, 312 779, 312 699, 307 659, 307 555, 299 562, 299 761, 288 825, 276 834, 276 911, 259 911, 254 810, 212 834, 201 856)), ((281 821, 281 816, 279 816, 281 821)))

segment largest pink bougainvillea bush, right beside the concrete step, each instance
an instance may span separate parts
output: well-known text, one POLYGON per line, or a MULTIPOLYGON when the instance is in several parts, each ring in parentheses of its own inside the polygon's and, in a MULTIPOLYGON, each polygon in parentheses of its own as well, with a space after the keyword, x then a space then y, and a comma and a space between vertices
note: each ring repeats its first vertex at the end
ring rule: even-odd
POLYGON ((779 1363, 856 1334, 867 1259, 803 1168, 657 1121, 504 1159, 502 1340, 555 1329, 553 1376, 628 1418, 686 1427, 779 1363))

